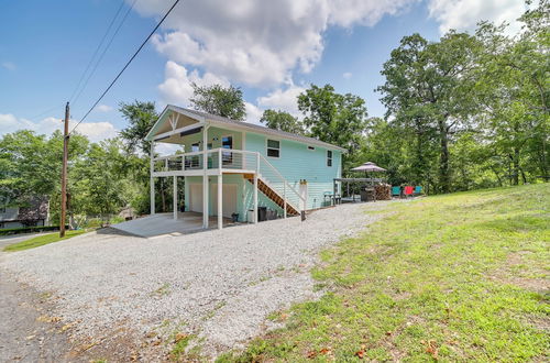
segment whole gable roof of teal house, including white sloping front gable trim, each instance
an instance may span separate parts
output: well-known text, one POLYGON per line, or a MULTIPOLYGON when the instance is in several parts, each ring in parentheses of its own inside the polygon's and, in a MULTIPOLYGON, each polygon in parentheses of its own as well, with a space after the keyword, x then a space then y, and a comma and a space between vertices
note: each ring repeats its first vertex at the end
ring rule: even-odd
MULTIPOLYGON (((270 129, 270 128, 262 127, 262 125, 258 125, 258 124, 253 124, 253 123, 250 123, 250 122, 235 121, 235 120, 231 120, 231 119, 228 119, 228 118, 223 118, 221 116, 216 116, 216 114, 211 114, 211 113, 207 113, 207 112, 202 112, 202 111, 186 109, 186 108, 177 107, 177 106, 174 106, 174 105, 166 106, 166 108, 164 109, 164 111, 158 117, 158 120, 156 121, 156 123, 153 125, 153 128, 151 129, 151 131, 145 136, 146 140, 152 140, 153 133, 155 132, 154 130, 158 128, 157 124, 161 122, 161 120, 163 119, 163 117, 168 111, 174 111, 174 112, 183 113, 183 114, 186 114, 186 116, 188 116, 188 117, 190 117, 193 119, 196 119, 199 122, 205 122, 206 121, 206 122, 209 122, 209 123, 211 123, 213 125, 219 125, 219 127, 222 127, 222 128, 226 127, 226 128, 229 128, 229 129, 239 129, 239 130, 243 130, 243 131, 249 131, 249 132, 255 132, 255 133, 272 135, 272 136, 275 136, 275 138, 298 141, 298 142, 306 143, 306 144, 318 145, 318 146, 322 146, 322 147, 326 147, 326 148, 338 150, 338 151, 341 151, 343 153, 346 152, 346 150, 343 148, 343 147, 329 144, 327 142, 317 140, 315 138, 308 138, 308 136, 298 135, 298 134, 286 132, 286 131, 274 130, 274 129, 270 129)), ((164 121, 164 122, 166 122, 166 121, 164 121)))

